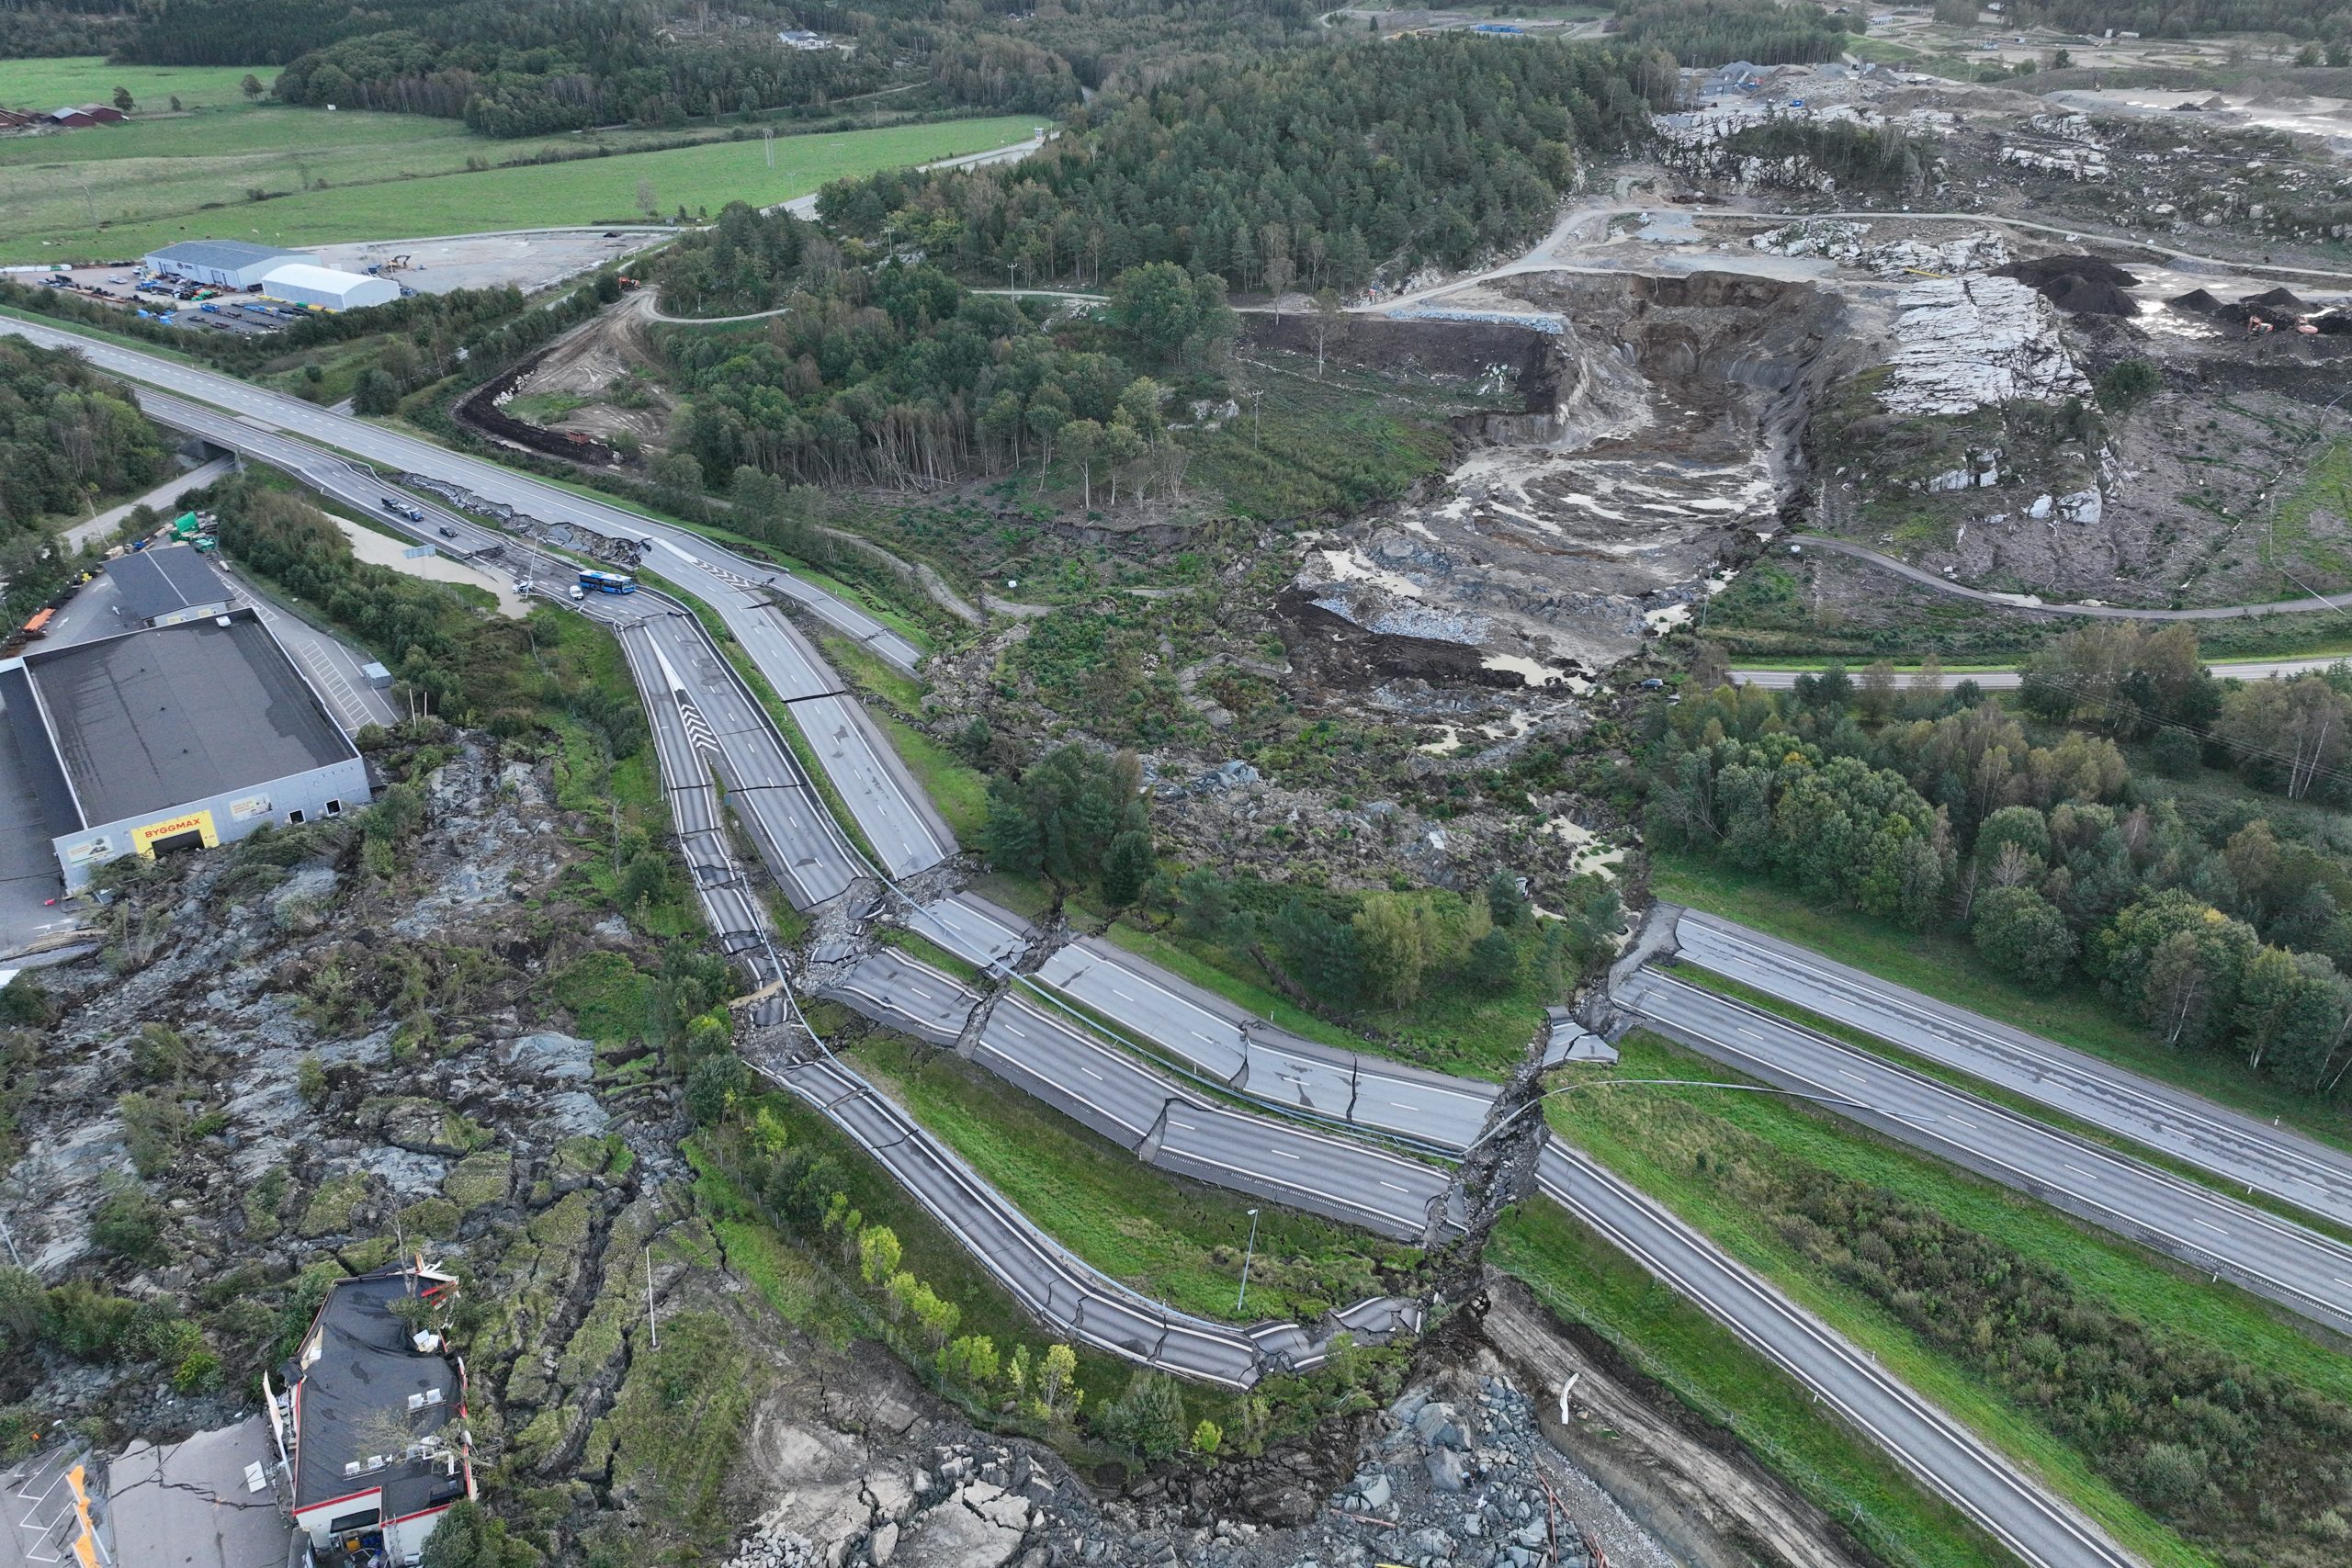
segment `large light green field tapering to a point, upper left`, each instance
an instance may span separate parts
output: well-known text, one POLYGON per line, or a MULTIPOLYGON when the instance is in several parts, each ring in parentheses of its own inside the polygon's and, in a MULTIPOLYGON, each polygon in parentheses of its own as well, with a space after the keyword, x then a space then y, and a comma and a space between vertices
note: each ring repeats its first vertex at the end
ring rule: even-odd
MULTIPOLYGON (((89 66, 0 61, 0 103, 59 99, 31 87, 78 80, 61 71, 75 63, 89 66)), ((80 80, 103 80, 108 71, 80 80)), ((779 136, 776 167, 769 169, 757 139, 713 139, 668 150, 642 148, 656 139, 675 141, 680 132, 494 141, 456 120, 360 110, 329 115, 268 99, 245 103, 235 92, 242 71, 195 75, 226 82, 226 99, 214 94, 186 115, 0 141, 0 186, 9 190, 0 205, 0 261, 118 259, 174 240, 332 244, 644 221, 640 183, 661 214, 677 207, 715 212, 731 200, 774 205, 849 174, 1009 146, 1040 125, 1033 115, 1000 115, 779 136), (602 148, 607 155, 468 169, 468 160, 496 165, 541 148, 602 148), (400 190, 388 190, 390 183, 400 190), (252 200, 254 190, 268 200, 252 200)), ((143 94, 136 80, 125 85, 143 94)), ((106 85, 80 96, 111 94, 106 85)), ((181 99, 202 101, 186 92, 181 99)))

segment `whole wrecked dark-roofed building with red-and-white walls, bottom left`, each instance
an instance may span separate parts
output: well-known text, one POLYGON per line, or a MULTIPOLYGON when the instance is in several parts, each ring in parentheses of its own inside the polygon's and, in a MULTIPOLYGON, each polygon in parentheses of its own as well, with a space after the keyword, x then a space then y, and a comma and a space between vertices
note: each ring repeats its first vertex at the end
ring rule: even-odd
POLYGON ((263 1375, 263 1406, 310 1559, 414 1563, 440 1516, 473 1497, 466 1363, 423 1324, 456 1279, 414 1262, 339 1279, 301 1347, 263 1375))

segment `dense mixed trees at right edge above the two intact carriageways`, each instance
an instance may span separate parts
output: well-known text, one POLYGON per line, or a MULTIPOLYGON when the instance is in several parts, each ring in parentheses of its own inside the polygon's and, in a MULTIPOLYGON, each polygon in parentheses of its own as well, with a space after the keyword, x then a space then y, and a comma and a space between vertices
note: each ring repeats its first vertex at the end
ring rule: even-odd
POLYGON ((1651 844, 1717 856, 1912 931, 1966 931, 2002 973, 2079 976, 2157 1039, 2338 1093, 2352 1070, 2352 863, 2310 816, 2213 809, 2133 773, 2230 766, 2286 802, 2352 799, 2352 668, 2213 682, 2173 625, 2051 644, 2020 708, 1971 682, 1832 668, 1780 698, 1724 686, 1649 755, 1651 844), (2105 733, 2091 733, 2105 731, 2105 733))

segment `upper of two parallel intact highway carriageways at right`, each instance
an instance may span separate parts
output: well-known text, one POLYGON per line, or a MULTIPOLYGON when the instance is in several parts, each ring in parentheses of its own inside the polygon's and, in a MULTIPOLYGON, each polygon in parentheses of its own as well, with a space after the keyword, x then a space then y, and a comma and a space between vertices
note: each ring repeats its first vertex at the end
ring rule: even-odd
POLYGON ((1682 910, 1675 940, 1684 961, 1726 980, 1877 1034, 1912 1056, 1957 1067, 2324 1220, 2352 1225, 2352 1154, 2345 1150, 1715 914, 1682 910))

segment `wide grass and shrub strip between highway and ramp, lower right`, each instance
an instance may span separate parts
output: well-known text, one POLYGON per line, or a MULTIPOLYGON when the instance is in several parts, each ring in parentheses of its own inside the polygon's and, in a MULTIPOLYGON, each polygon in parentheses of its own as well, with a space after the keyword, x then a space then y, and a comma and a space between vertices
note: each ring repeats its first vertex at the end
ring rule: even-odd
MULTIPOLYGON (((1731 1077, 1646 1034, 1623 1053, 1616 1077, 1731 1077)), ((2267 1302, 1830 1112, 1639 1088, 1562 1095, 1550 1117, 2147 1563, 2216 1563, 2232 1528, 2300 1530, 2310 1493, 2286 1474, 2279 1516, 2246 1516, 2253 1460, 2352 1429, 2352 1359, 2267 1302), (2227 1458, 2206 1406, 2239 1408, 2227 1458), (2176 1486, 2176 1460, 2211 1486, 2176 1486)))

